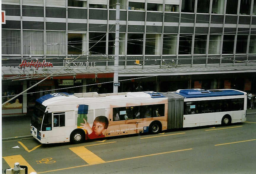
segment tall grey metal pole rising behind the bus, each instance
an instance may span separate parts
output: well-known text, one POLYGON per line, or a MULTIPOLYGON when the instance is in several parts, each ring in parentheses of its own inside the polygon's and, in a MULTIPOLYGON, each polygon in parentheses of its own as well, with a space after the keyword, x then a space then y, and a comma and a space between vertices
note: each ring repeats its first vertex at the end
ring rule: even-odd
MULTIPOLYGON (((114 83, 118 82, 118 62, 119 62, 119 16, 120 3, 116 0, 116 38, 115 38, 115 62, 114 62, 114 83)), ((118 86, 113 86, 113 93, 118 92, 118 86)))

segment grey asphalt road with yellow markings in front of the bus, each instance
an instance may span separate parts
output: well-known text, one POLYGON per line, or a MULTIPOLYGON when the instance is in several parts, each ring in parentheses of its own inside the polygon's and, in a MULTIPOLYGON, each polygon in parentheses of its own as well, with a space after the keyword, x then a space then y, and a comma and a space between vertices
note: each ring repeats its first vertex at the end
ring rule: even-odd
POLYGON ((247 122, 226 127, 186 128, 82 144, 41 145, 33 138, 3 141, 2 167, 19 160, 28 165, 29 172, 37 173, 255 173, 255 128, 256 116, 248 115, 247 122))

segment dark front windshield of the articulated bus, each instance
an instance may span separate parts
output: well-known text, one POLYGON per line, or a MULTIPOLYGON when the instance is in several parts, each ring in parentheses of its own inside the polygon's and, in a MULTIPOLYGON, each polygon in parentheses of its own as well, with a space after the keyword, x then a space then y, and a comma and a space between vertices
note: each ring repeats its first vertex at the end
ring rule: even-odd
POLYGON ((31 125, 34 126, 37 130, 41 130, 45 109, 46 107, 39 103, 36 103, 36 105, 33 108, 31 125))

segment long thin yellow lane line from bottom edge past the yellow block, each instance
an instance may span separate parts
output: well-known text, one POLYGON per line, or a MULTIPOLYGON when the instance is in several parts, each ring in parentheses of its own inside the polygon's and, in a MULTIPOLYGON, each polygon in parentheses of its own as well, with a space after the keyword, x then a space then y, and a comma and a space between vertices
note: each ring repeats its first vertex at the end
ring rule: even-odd
MULTIPOLYGON (((157 153, 157 154, 149 154, 149 155, 143 155, 143 156, 138 156, 138 157, 124 158, 124 159, 119 159, 119 160, 105 161, 104 163, 123 161, 123 160, 130 160, 130 159, 135 159, 135 158, 149 157, 149 156, 154 156, 154 155, 168 154, 168 153, 181 152, 181 151, 187 151, 187 150, 192 150, 192 148, 190 148, 190 149, 182 149, 182 150, 175 150, 175 151, 170 151, 170 152, 162 152, 162 153, 157 153)), ((67 167, 67 168, 62 168, 62 169, 48 170, 48 171, 44 171, 44 172, 37 172, 37 174, 48 173, 48 172, 55 172, 55 171, 67 170, 67 169, 73 169, 73 168, 78 168, 78 167, 85 167, 85 166, 90 166, 90 165, 95 165, 95 164, 86 164, 86 165, 79 165, 79 166, 67 167)))

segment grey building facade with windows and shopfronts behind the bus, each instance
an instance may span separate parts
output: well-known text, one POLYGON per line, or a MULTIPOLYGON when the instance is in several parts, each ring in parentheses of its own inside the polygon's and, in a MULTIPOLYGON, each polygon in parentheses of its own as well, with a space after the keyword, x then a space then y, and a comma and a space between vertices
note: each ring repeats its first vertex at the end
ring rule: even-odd
MULTIPOLYGON (((2 10, 6 14, 1 30, 3 96, 38 82, 39 74, 51 74, 52 67, 40 73, 34 67, 19 67, 22 60, 37 59, 60 68, 78 55, 76 61, 94 62, 94 66, 65 67, 65 72, 58 72, 61 78, 49 78, 46 86, 33 91, 60 88, 63 80, 81 86, 67 92, 113 91, 113 84, 103 84, 104 90, 101 85, 93 89, 82 85, 113 80, 115 0, 2 0, 2 10), (98 78, 104 73, 109 74, 98 78), (27 80, 12 82, 17 90, 10 91, 9 81, 18 78, 27 80)), ((120 92, 140 90, 140 86, 161 92, 228 87, 256 92, 256 0, 120 0, 119 20, 119 80, 126 80, 120 92), (176 72, 186 66, 190 69, 176 72), (217 70, 228 66, 239 68, 228 73, 225 68, 217 70), (209 69, 193 71, 196 67, 216 67, 215 75, 205 73, 209 69), (163 76, 155 72, 158 68, 176 70, 163 76), (127 80, 145 76, 154 77, 127 80)), ((33 105, 31 97, 20 97, 23 113, 33 105)))

